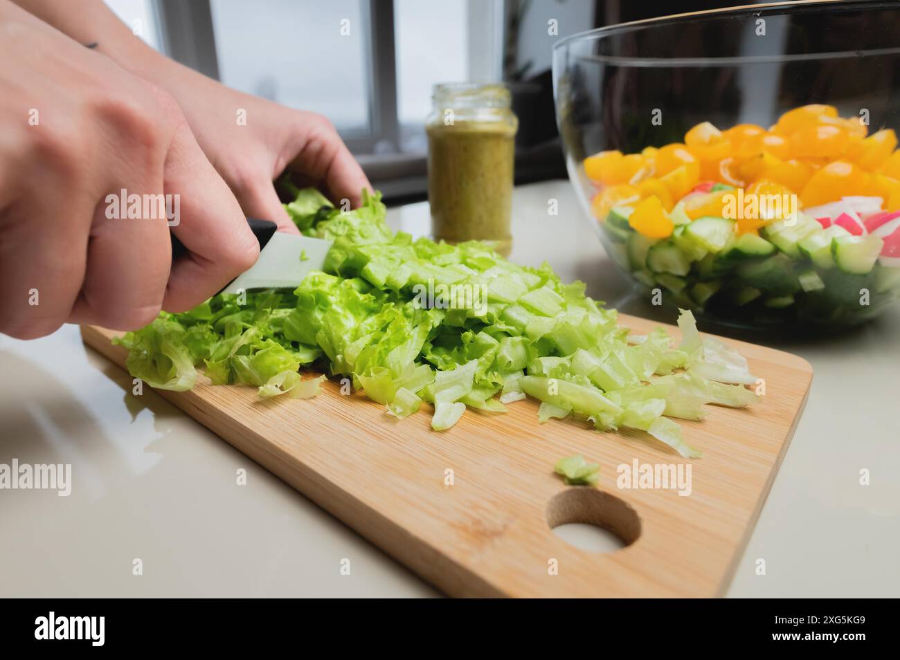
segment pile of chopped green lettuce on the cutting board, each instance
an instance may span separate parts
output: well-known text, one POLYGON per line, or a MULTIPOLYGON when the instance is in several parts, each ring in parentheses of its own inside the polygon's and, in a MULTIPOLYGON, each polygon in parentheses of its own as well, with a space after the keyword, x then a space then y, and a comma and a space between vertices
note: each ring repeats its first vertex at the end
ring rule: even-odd
POLYGON ((544 263, 509 263, 479 242, 413 239, 384 222, 379 193, 356 210, 320 192, 287 187, 285 210, 307 236, 333 241, 322 272, 293 291, 220 294, 115 340, 128 369, 155 388, 243 384, 262 397, 312 397, 321 379, 348 379, 403 418, 434 405, 432 427, 452 427, 467 408, 502 413, 526 397, 538 418, 572 417, 598 431, 648 433, 698 457, 671 417, 699 420, 704 406, 759 400, 734 349, 701 336, 682 310, 679 344, 662 328, 629 334, 615 309, 566 284, 544 263))

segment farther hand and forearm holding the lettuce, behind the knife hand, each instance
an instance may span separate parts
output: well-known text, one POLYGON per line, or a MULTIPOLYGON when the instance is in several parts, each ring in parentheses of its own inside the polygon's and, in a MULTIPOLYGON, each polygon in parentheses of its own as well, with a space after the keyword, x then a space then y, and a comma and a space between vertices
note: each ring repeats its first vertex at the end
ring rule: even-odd
MULTIPOLYGON (((2 0, 0 0, 2 1, 2 0)), ((102 0, 59 3, 14 0, 27 11, 175 97, 203 153, 250 218, 296 232, 273 181, 286 169, 295 183, 315 186, 340 204, 360 203, 371 190, 362 168, 329 120, 242 94, 151 49, 102 0)))

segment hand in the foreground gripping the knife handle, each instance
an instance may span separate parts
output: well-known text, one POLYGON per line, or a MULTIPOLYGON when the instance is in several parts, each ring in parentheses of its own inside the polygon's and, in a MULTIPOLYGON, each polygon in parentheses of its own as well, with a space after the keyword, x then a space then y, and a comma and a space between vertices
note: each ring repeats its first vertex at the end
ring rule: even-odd
POLYGON ((0 35, 0 332, 137 328, 256 261, 238 201, 169 94, 5 0, 0 35), (171 262, 165 212, 109 219, 122 190, 177 196, 171 231, 189 254, 171 262))

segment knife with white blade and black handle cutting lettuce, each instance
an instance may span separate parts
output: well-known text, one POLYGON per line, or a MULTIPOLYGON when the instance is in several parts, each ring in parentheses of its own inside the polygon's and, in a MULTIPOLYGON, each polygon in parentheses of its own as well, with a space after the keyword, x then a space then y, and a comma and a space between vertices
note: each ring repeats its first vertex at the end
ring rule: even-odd
MULTIPOLYGON (((331 241, 310 236, 297 236, 275 231, 270 220, 247 219, 247 226, 259 241, 259 258, 219 293, 239 293, 253 289, 296 289, 312 271, 325 266, 331 241)), ((172 259, 185 254, 187 248, 172 235, 172 259)))

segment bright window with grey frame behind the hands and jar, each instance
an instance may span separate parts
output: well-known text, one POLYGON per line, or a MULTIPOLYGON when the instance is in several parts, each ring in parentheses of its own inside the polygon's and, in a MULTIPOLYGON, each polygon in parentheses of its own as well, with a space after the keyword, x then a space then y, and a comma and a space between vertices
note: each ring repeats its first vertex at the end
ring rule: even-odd
POLYGON ((326 115, 356 154, 424 154, 434 85, 500 79, 503 0, 106 1, 183 64, 326 115))

